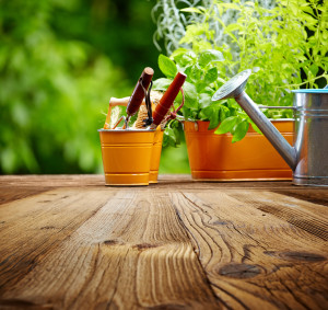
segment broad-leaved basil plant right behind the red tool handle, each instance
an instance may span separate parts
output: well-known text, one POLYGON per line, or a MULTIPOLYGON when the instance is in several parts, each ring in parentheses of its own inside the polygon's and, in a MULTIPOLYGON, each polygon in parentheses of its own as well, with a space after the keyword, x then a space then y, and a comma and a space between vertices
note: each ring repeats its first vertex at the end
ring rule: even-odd
MULTIPOLYGON (((233 142, 244 138, 253 122, 234 101, 212 102, 215 90, 224 83, 222 69, 224 58, 222 53, 215 49, 204 49, 197 54, 184 48, 175 50, 171 58, 160 55, 159 67, 166 78, 157 79, 154 89, 165 91, 177 71, 185 72, 187 80, 184 84, 185 105, 183 115, 185 119, 210 120, 209 129, 218 134, 231 131, 233 142)), ((179 104, 181 97, 177 97, 179 104)), ((257 129, 257 127, 253 124, 257 129)), ((172 122, 165 131, 168 145, 176 145, 177 124, 172 122)))

